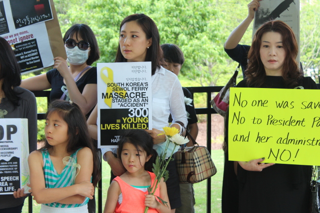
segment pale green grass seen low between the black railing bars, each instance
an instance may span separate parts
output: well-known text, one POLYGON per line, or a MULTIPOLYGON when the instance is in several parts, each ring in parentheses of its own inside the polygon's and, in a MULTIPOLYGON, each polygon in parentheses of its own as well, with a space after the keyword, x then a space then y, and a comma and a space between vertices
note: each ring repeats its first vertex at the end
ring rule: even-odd
MULTIPOLYGON (((217 167, 217 174, 211 178, 211 213, 221 213, 221 192, 222 192, 222 178, 224 173, 224 154, 222 150, 211 151, 212 160, 217 167)), ((110 166, 107 162, 102 161, 102 203, 104 209, 104 202, 107 198, 107 190, 110 182, 110 166)), ((206 213, 207 195, 206 195, 207 181, 201 183, 195 183, 195 211, 196 213, 206 213)), ((97 195, 97 193, 96 193, 97 195)), ((97 206, 97 198, 96 198, 97 206)), ((40 212, 41 204, 37 204, 35 201, 32 203, 33 213, 40 212)), ((96 212, 98 212, 96 210, 96 212)), ((22 209, 22 213, 28 213, 28 199, 25 200, 25 205, 22 209)))

